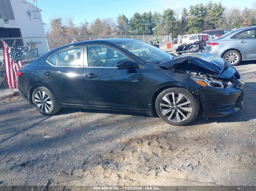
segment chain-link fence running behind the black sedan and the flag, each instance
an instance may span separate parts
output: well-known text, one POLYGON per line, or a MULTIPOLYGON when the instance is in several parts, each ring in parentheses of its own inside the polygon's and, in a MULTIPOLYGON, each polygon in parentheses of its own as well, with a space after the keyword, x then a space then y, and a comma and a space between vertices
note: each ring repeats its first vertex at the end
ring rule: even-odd
MULTIPOLYGON (((101 35, 101 36, 73 36, 73 37, 24 37, 24 38, 0 38, 8 46, 12 47, 14 41, 18 46, 18 50, 21 56, 22 64, 29 64, 43 54, 49 52, 52 49, 60 46, 81 42, 87 40, 106 39, 106 38, 130 38, 140 40, 146 43, 152 44, 152 40, 155 39, 153 35, 101 35)), ((171 38, 168 35, 158 35, 159 46, 164 49, 165 43, 170 43, 171 38)), ((2 45, 0 43, 0 101, 4 100, 9 95, 14 93, 17 89, 7 89, 5 65, 2 45)))

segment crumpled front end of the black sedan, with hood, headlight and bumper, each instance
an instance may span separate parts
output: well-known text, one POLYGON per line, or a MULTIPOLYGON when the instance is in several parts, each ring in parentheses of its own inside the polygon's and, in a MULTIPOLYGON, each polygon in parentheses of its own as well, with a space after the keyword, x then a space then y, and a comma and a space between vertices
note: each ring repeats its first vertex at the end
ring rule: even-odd
POLYGON ((193 93, 204 107, 203 117, 225 116, 243 105, 243 85, 239 72, 217 56, 193 53, 177 56, 159 67, 190 75, 201 85, 193 93))

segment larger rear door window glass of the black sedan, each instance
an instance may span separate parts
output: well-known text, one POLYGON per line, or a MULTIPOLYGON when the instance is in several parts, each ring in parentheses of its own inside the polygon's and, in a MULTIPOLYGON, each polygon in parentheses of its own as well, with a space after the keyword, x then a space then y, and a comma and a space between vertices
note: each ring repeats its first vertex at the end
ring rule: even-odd
POLYGON ((81 47, 59 51, 58 66, 83 66, 83 62, 81 62, 81 47))

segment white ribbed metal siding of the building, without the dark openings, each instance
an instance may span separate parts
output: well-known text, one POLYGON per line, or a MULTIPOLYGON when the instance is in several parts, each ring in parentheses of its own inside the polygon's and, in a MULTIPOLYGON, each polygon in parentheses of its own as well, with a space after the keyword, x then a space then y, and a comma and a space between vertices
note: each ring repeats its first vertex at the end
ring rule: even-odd
MULTIPOLYGON (((19 28, 21 30, 22 37, 45 37, 45 30, 42 22, 40 9, 38 9, 40 19, 35 19, 33 7, 30 4, 28 4, 23 0, 10 0, 10 1, 11 1, 15 20, 9 20, 9 23, 6 24, 4 19, 0 19, 0 27, 19 28), (27 12, 28 10, 33 14, 33 15, 30 15, 31 21, 29 20, 29 15, 27 12)), ((38 17, 37 12, 36 12, 36 16, 38 17)))

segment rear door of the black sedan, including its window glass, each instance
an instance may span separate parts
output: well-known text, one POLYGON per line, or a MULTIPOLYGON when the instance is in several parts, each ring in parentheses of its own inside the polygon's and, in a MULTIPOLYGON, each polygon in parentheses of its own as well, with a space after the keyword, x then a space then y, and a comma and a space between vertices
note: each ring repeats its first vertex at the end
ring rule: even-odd
POLYGON ((87 105, 83 49, 76 46, 53 53, 41 70, 43 80, 63 104, 87 105))

